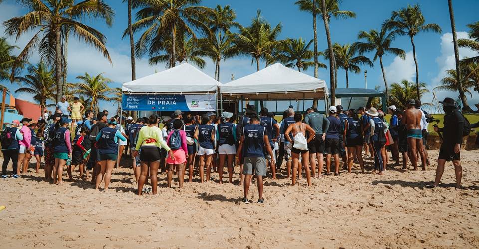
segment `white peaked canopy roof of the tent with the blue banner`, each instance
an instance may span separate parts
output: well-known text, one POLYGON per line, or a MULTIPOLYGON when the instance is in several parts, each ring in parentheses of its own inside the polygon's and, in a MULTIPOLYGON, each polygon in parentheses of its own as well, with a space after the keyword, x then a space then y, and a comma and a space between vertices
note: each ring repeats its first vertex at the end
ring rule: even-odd
POLYGON ((123 84, 122 91, 133 93, 216 92, 220 82, 189 63, 123 84))

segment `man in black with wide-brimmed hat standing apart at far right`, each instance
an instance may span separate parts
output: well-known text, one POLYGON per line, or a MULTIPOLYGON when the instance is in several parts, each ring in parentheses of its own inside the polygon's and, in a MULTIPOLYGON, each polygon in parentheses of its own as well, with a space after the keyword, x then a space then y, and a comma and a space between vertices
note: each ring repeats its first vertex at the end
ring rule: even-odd
POLYGON ((446 161, 453 161, 454 170, 456 172, 456 189, 461 188, 461 177, 463 169, 461 168, 460 152, 463 139, 463 116, 459 111, 454 100, 451 98, 445 98, 444 101, 439 103, 443 104, 444 110, 444 127, 438 128, 434 126, 434 131, 443 132, 443 143, 439 150, 438 167, 436 169, 436 179, 433 185, 427 185, 426 188, 435 188, 439 186, 441 177, 444 172, 444 164, 446 161))

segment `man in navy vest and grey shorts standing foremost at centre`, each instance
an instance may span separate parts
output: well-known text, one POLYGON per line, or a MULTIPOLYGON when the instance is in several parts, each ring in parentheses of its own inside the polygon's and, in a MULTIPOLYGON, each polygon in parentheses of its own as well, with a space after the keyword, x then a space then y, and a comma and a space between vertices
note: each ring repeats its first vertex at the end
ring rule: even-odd
POLYGON ((244 178, 244 198, 243 202, 248 204, 248 190, 251 177, 254 173, 258 179, 258 203, 264 203, 263 199, 263 176, 266 176, 266 158, 264 151, 271 157, 271 163, 275 163, 275 158, 269 144, 268 132, 266 128, 259 124, 257 116, 251 117, 251 123, 243 127, 241 135, 241 143, 238 147, 237 154, 243 155, 243 172, 244 178))

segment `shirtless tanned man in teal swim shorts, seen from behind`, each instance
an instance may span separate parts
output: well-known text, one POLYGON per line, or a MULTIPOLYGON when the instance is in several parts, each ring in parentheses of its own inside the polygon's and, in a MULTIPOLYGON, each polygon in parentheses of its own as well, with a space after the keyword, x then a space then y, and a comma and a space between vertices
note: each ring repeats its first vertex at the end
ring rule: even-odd
POLYGON ((422 112, 414 107, 416 102, 408 101, 408 109, 404 112, 403 124, 406 125, 408 139, 408 155, 414 170, 418 170, 418 154, 421 155, 423 170, 426 170, 426 157, 423 151, 423 135, 421 130, 422 112))

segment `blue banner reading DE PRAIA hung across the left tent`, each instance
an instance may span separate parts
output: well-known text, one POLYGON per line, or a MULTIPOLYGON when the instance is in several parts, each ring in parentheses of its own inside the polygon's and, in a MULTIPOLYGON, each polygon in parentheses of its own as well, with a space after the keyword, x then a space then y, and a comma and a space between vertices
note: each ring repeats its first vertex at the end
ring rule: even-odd
POLYGON ((134 111, 215 111, 215 94, 123 94, 123 110, 134 111))

